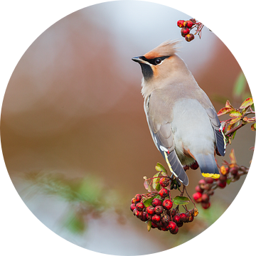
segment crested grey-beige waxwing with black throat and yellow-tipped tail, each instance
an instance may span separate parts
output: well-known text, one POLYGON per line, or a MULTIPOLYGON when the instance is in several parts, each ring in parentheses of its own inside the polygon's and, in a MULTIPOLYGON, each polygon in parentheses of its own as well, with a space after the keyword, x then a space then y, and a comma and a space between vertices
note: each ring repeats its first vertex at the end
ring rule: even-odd
POLYGON ((144 112, 151 137, 171 173, 184 186, 183 166, 198 163, 204 177, 219 178, 215 154, 225 155, 225 135, 212 102, 168 40, 132 60, 142 68, 144 112))

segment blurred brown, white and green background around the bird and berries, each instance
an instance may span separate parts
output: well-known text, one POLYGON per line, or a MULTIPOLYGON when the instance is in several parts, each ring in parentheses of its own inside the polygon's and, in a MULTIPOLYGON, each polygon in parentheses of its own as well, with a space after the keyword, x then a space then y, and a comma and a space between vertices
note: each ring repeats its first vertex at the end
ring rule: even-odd
MULTIPOLYGON (((153 176, 157 162, 166 166, 151 140, 132 57, 181 39, 179 55, 217 111, 227 99, 239 107, 250 97, 247 83, 235 95, 242 68, 207 24, 201 39, 181 37, 176 22, 189 18, 196 17, 148 1, 94 4, 53 23, 15 66, 1 107, 4 163, 28 210, 61 238, 109 255, 161 252, 202 233, 238 195, 244 176, 216 190, 212 206, 198 207, 177 235, 148 233, 129 210, 134 195, 146 193, 143 176, 153 176)), ((250 146, 255 134, 247 125, 218 163, 234 148, 238 164, 250 166, 250 146)), ((192 196, 201 173, 188 176, 192 196)))

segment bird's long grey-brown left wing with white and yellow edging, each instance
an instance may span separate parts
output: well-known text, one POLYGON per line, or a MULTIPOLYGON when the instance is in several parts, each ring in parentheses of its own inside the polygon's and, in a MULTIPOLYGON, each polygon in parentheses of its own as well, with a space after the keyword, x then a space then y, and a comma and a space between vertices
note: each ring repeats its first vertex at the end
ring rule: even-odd
POLYGON ((157 149, 159 149, 162 156, 164 156, 164 159, 174 176, 178 177, 183 185, 188 186, 188 176, 186 175, 174 149, 174 138, 169 117, 171 114, 160 114, 163 113, 161 107, 168 106, 165 105, 164 101, 157 100, 157 95, 154 95, 154 92, 152 92, 145 100, 144 107, 151 136, 157 149))

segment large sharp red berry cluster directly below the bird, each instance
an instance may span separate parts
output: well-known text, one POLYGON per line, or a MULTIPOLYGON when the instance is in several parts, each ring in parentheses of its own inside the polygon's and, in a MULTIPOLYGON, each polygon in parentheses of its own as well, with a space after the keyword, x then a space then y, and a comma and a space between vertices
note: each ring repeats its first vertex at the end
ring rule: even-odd
MULTIPOLYGON (((198 215, 196 207, 191 210, 188 210, 186 206, 184 207, 184 204, 189 202, 188 198, 176 196, 174 200, 171 199, 171 183, 174 181, 173 178, 168 176, 161 177, 159 181, 155 181, 156 188, 159 186, 159 191, 151 191, 151 193, 142 195, 137 194, 132 198, 130 209, 137 218, 147 222, 148 230, 158 228, 176 234, 183 223, 192 222, 193 218, 198 215), (177 206, 172 208, 174 203, 177 206), (185 213, 179 212, 179 205, 186 209, 185 213)), ((183 195, 183 192, 181 194, 183 195)))

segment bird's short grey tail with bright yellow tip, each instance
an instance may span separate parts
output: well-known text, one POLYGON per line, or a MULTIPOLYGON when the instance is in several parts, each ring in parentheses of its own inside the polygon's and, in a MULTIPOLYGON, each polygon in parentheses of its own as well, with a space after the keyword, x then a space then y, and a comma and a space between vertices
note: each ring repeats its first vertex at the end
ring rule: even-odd
POLYGON ((213 154, 196 154, 194 156, 204 177, 220 177, 220 173, 218 171, 218 167, 213 154))

